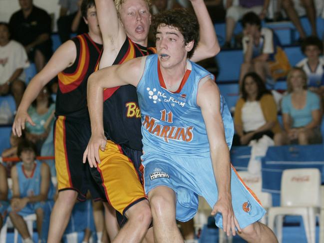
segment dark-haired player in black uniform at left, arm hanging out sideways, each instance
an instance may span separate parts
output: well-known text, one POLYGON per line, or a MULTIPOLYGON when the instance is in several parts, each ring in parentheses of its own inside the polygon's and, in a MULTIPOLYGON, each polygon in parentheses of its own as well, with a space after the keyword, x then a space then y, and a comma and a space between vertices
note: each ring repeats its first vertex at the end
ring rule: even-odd
POLYGON ((94 0, 83 0, 81 11, 89 32, 63 43, 30 81, 12 126, 13 133, 20 136, 25 122, 33 124, 27 114, 30 103, 41 88, 58 75, 54 147, 59 193, 50 219, 50 243, 60 242, 76 199, 85 200, 88 190, 94 199, 105 199, 88 166, 82 164, 82 154, 91 135, 86 104, 87 79, 99 60, 102 38, 94 0))

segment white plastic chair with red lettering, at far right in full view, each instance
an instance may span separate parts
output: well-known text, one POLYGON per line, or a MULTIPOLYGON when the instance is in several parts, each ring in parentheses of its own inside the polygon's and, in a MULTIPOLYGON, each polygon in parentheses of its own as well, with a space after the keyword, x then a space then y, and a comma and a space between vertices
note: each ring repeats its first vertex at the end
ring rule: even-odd
POLYGON ((282 222, 285 215, 301 215, 308 243, 315 243, 316 214, 321 207, 321 173, 318 169, 284 170, 281 179, 280 207, 268 211, 268 226, 274 231, 275 219, 278 241, 282 242, 282 222))

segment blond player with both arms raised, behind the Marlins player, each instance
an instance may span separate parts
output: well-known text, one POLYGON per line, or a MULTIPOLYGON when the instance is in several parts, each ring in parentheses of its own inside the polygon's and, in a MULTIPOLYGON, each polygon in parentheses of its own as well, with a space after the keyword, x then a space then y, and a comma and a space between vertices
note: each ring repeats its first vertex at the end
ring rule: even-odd
MULTIPOLYGON (((193 57, 198 61, 216 55, 219 45, 204 2, 193 0, 192 4, 201 24, 200 50, 193 57)), ((149 54, 146 48, 151 22, 148 0, 116 0, 118 13, 112 0, 96 0, 96 5, 104 44, 99 68, 149 54)), ((103 109, 104 115, 93 121, 95 129, 83 162, 88 155, 90 166, 96 167, 91 173, 97 184, 110 204, 128 219, 115 240, 139 242, 151 222, 151 214, 136 170, 141 164, 142 150, 136 89, 130 85, 106 89, 103 96, 104 103, 98 104, 97 109, 103 109), (101 161, 98 167, 94 157, 101 161)))

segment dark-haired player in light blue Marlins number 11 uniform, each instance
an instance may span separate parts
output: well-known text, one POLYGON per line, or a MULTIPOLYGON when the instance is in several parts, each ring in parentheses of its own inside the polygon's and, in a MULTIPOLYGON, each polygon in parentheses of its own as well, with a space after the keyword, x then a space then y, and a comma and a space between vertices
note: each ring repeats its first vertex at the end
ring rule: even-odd
MULTIPOLYGON (((155 241, 183 242, 176 219, 191 219, 201 195, 227 235, 238 231, 248 242, 276 243, 273 232, 258 222, 265 210, 231 168, 233 121, 214 77, 187 59, 198 43, 195 16, 176 9, 158 14, 154 22, 158 54, 91 74, 88 106, 90 116, 102 121, 103 88, 137 87, 155 241)), ((92 155, 95 149, 90 148, 92 155)))

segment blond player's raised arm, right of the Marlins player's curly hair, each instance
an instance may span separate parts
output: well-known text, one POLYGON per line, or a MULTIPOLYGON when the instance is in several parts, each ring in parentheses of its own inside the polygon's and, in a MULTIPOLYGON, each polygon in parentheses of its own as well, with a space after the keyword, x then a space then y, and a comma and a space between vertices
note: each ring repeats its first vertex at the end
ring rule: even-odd
POLYGON ((190 59, 197 62, 217 55, 220 51, 220 46, 214 24, 209 16, 204 0, 191 0, 191 3, 199 23, 200 40, 190 59))

